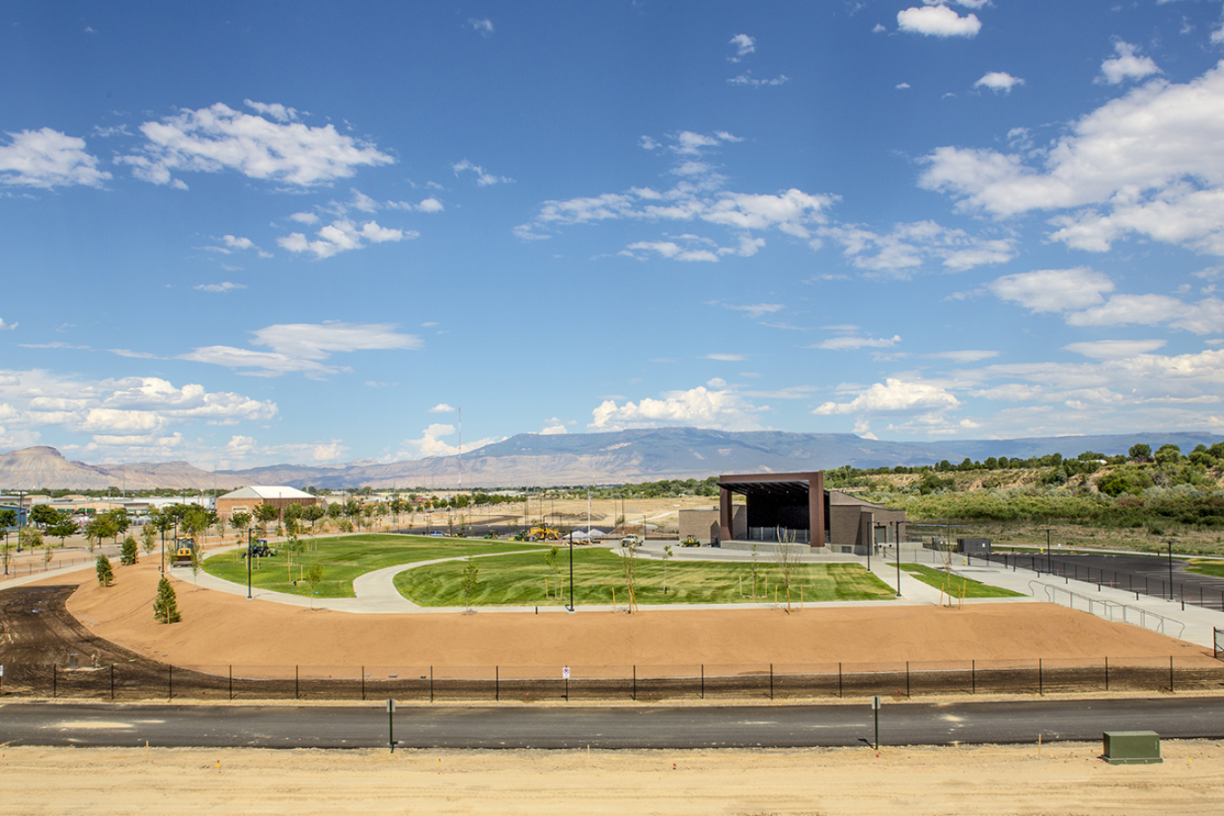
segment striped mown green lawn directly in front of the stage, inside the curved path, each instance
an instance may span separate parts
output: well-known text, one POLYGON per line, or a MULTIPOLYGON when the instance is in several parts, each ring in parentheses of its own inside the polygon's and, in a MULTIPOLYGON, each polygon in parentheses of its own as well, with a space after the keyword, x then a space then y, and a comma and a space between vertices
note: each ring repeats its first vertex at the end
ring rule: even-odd
MULTIPOLYGON (((562 548, 558 555, 559 573, 556 579, 545 564, 545 553, 477 559, 479 585, 471 598, 472 606, 568 603, 567 549, 562 548), (563 597, 546 597, 545 579, 548 579, 550 588, 559 584, 563 597)), ((464 563, 457 562, 406 570, 395 576, 395 588, 404 597, 425 607, 459 607, 464 604, 464 563)), ((738 562, 668 562, 667 595, 663 595, 662 562, 639 559, 636 575, 640 604, 765 602, 774 599, 774 587, 777 585, 777 568, 769 563, 756 566, 756 597, 752 597, 752 565, 738 562)), ((803 586, 805 602, 894 597, 892 590, 858 564, 800 564, 796 568, 796 579, 791 585, 792 604, 799 603, 799 586, 803 586)), ((613 588, 617 603, 625 603, 628 598, 621 558, 603 548, 575 549, 574 603, 610 604, 613 588)), ((782 597, 780 599, 785 601, 782 597)))

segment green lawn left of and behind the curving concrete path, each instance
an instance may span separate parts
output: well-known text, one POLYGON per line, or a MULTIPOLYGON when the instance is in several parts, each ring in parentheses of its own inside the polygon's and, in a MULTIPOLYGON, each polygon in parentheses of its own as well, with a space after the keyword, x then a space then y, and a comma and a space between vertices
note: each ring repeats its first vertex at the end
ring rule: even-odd
MULTIPOLYGON (((278 554, 272 558, 258 558, 251 570, 253 586, 310 597, 310 585, 294 579, 306 575, 306 570, 316 562, 323 566, 323 581, 316 590, 319 598, 351 598, 353 580, 362 573, 425 562, 435 558, 454 558, 469 553, 507 553, 531 549, 540 544, 520 541, 485 541, 481 538, 438 538, 433 536, 397 536, 392 533, 340 536, 335 538, 316 538, 313 542, 302 538, 306 549, 301 557, 295 557, 290 573, 286 547, 275 544, 278 554)), ((217 577, 246 584, 246 560, 241 551, 222 553, 204 559, 204 571, 217 577)), ((539 555, 537 558, 543 558, 539 555)))

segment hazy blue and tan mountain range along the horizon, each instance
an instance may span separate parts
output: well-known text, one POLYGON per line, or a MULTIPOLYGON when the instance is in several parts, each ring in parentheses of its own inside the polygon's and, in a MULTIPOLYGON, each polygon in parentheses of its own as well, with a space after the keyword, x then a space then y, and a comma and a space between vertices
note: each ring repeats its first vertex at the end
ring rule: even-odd
POLYGON ((540 436, 524 433, 459 456, 433 456, 398 462, 354 461, 348 465, 272 465, 211 472, 185 461, 88 465, 65 459, 48 447, 0 455, 0 489, 33 487, 67 489, 234 488, 244 484, 315 486, 353 489, 435 487, 519 487, 556 484, 616 484, 661 478, 705 478, 720 473, 769 473, 854 467, 960 464, 966 458, 1022 458, 1084 450, 1113 455, 1136 443, 1153 450, 1175 444, 1182 453, 1211 445, 1209 433, 1127 433, 1091 437, 1026 439, 949 439, 885 442, 849 433, 731 433, 700 428, 652 428, 613 433, 540 436), (461 467, 461 478, 460 478, 461 467))

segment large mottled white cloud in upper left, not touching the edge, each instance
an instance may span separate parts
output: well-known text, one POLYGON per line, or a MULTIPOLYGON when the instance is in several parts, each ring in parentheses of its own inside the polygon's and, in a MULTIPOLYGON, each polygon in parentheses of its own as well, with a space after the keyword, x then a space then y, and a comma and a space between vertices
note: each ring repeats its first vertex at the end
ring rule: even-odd
POLYGON ((348 179, 357 168, 394 163, 373 144, 343 136, 332 125, 269 121, 223 103, 144 122, 140 130, 147 139, 143 148, 116 160, 132 165, 136 177, 158 185, 185 187, 174 179, 175 171, 237 170, 250 179, 308 187, 348 179))

